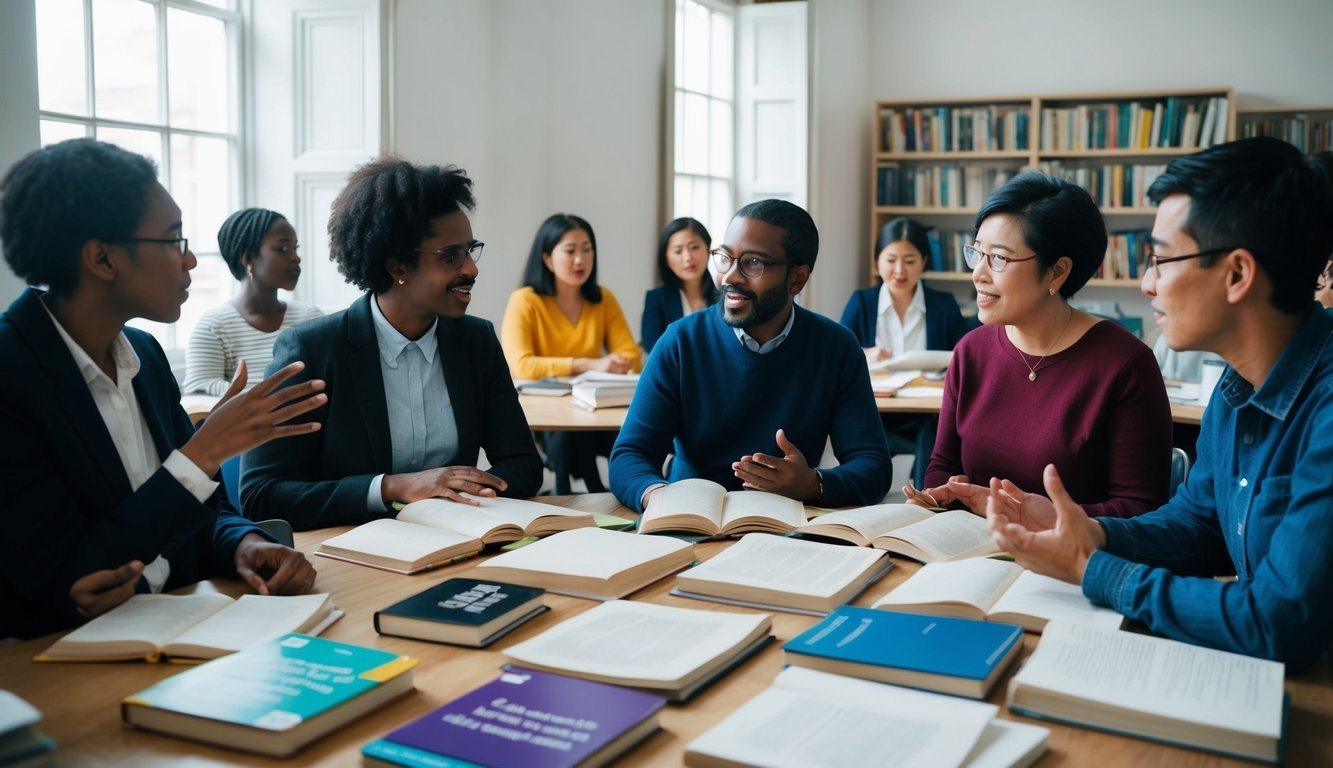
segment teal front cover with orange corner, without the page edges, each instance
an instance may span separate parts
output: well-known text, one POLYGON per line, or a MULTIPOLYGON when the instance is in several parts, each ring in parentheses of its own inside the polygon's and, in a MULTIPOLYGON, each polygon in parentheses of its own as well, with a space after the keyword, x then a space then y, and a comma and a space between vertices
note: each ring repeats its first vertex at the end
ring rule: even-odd
POLYGON ((280 732, 415 665, 411 656, 287 635, 173 675, 124 704, 280 732))

